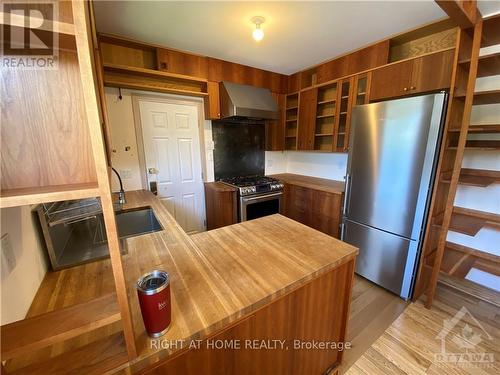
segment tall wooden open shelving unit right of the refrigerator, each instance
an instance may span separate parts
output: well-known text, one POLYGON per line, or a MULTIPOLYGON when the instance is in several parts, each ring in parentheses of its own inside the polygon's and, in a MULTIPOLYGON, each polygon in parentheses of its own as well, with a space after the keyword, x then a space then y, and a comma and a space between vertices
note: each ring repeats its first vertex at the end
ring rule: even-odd
POLYGON ((448 231, 471 237, 483 228, 500 231, 500 215, 454 206, 460 185, 487 188, 500 182, 500 171, 462 167, 467 150, 498 152, 500 149, 500 141, 488 137, 500 132, 499 124, 470 123, 473 106, 500 103, 500 90, 475 91, 476 77, 500 73, 500 54, 491 52, 498 51, 498 48, 479 55, 480 48, 494 44, 500 46, 499 30, 500 16, 497 15, 479 20, 472 29, 463 29, 459 33, 453 73, 455 84, 450 92, 439 178, 431 203, 432 225, 424 240, 424 261, 419 277, 418 287, 427 290, 428 307, 432 304, 438 282, 500 305, 498 291, 490 289, 487 284, 471 281, 470 276, 473 270, 500 275, 500 256, 488 249, 476 249, 448 240, 448 231), (482 137, 468 138, 471 134, 482 137))

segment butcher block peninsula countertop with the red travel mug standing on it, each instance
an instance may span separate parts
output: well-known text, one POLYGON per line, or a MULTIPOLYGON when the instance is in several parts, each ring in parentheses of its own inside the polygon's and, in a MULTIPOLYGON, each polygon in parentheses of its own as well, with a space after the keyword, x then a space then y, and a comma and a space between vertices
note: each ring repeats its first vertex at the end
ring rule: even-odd
POLYGON ((157 361, 176 350, 151 349, 134 289, 140 275, 153 269, 170 274, 172 323, 161 339, 189 341, 210 336, 358 253, 355 247, 282 215, 188 236, 153 194, 126 195, 124 209, 151 206, 164 228, 127 239, 124 271, 139 344, 137 364, 150 356, 157 361))

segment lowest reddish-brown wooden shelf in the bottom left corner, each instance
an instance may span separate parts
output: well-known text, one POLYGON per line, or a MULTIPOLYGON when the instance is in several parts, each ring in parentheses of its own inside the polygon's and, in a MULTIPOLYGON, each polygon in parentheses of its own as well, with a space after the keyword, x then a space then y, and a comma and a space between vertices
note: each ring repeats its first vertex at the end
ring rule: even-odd
POLYGON ((104 374, 127 361, 125 340, 119 332, 8 374, 104 374))

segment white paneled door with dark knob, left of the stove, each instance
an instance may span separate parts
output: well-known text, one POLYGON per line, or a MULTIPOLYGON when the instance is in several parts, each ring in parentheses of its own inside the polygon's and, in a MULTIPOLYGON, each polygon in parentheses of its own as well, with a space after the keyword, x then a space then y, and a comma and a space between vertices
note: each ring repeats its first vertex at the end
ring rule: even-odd
POLYGON ((148 186, 186 231, 203 231, 205 199, 196 105, 139 100, 148 186))

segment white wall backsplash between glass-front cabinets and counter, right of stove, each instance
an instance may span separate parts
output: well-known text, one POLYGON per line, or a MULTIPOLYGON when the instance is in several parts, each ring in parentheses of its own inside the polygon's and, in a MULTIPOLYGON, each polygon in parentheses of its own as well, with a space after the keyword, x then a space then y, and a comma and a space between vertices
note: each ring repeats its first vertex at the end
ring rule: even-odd
POLYGON ((295 173, 343 181, 346 168, 347 154, 303 151, 266 152, 266 174, 295 173))

